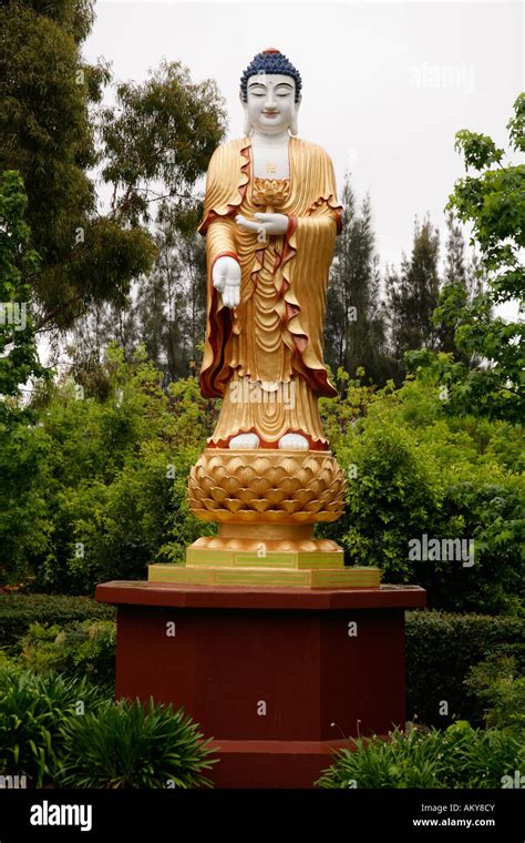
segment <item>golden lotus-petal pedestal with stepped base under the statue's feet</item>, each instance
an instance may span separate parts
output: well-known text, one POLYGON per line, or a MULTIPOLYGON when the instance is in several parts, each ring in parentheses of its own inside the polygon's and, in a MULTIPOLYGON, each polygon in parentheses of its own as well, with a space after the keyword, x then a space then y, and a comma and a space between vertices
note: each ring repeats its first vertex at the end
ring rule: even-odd
POLYGON ((206 448, 193 467, 189 506, 218 525, 183 565, 151 565, 150 582, 200 586, 372 588, 373 567, 346 567, 343 550, 316 539, 316 524, 344 508, 344 476, 330 451, 206 448))

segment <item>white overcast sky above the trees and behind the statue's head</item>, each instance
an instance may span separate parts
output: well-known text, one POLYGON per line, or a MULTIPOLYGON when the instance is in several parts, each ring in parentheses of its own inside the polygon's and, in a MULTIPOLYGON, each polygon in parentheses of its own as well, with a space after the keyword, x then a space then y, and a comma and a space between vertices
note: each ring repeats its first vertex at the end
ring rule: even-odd
MULTIPOLYGON (((460 129, 506 148, 524 89, 518 2, 128 2, 97 0, 84 55, 113 62, 116 80, 147 79, 162 58, 213 78, 226 98, 229 138, 243 134, 239 77, 276 47, 302 77, 299 135, 332 156, 339 191, 351 171, 370 191, 381 265, 410 252, 414 216, 443 207, 464 174, 460 129)), ((515 161, 514 155, 514 161, 515 161)))

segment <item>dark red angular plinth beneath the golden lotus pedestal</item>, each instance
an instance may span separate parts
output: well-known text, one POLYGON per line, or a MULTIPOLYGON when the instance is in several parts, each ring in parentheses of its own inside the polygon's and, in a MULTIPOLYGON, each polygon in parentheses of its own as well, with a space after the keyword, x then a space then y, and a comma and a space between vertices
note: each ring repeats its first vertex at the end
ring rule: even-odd
POLYGON ((346 738, 404 725, 418 586, 106 582, 96 599, 119 607, 116 697, 183 705, 220 746, 218 788, 311 788, 346 738))

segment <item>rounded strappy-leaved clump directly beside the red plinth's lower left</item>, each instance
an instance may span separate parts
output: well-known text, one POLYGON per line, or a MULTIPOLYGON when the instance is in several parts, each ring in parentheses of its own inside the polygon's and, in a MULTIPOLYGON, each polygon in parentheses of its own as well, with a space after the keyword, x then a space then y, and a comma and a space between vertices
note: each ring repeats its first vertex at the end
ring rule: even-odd
POLYGON ((209 742, 183 709, 121 700, 63 729, 59 783, 68 788, 199 788, 212 759, 209 742))

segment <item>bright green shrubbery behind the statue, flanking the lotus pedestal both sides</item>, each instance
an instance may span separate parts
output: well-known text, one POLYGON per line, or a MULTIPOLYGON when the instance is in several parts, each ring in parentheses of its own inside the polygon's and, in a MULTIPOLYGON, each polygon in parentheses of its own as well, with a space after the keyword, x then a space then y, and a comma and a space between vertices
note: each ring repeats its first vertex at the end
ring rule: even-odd
MULTIPOLYGON (((319 534, 341 542, 347 563, 428 587, 433 607, 518 611, 519 431, 451 417, 429 379, 374 392, 339 375, 342 397, 322 399, 321 412, 347 471, 347 511, 319 534), (473 558, 412 558, 411 542, 424 536, 463 541, 473 558)), ((96 384, 64 378, 38 409, 40 423, 16 427, 0 457, 6 581, 34 577, 38 589, 90 595, 103 579, 141 579, 150 562, 182 561, 210 529, 186 501, 216 414, 196 378, 165 390, 143 356, 124 363, 111 348, 96 384)))

